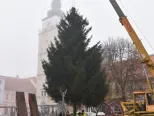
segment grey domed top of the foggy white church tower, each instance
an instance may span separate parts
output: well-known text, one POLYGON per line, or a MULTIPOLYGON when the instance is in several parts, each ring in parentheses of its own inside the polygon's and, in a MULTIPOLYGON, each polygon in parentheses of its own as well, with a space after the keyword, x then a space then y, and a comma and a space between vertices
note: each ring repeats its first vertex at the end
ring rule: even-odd
POLYGON ((51 10, 48 11, 48 17, 52 17, 54 15, 62 16, 61 0, 52 0, 51 10))

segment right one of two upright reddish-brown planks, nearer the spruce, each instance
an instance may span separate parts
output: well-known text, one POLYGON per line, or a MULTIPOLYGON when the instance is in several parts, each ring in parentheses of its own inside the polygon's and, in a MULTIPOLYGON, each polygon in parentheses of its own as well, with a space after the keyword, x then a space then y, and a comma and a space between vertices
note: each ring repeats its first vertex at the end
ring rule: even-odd
POLYGON ((29 94, 29 106, 31 116, 39 116, 37 101, 35 94, 29 94))

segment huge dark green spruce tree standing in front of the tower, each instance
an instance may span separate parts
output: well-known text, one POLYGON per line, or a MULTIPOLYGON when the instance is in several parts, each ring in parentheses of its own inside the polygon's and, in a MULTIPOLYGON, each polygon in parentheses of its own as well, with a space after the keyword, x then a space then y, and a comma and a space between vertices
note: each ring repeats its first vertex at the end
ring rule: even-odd
POLYGON ((108 91, 105 71, 101 69, 100 43, 88 47, 91 27, 86 18, 71 8, 57 25, 58 36, 51 43, 48 61, 43 61, 46 75, 44 85, 48 95, 61 101, 60 88, 67 89, 65 101, 76 106, 100 104, 108 91))

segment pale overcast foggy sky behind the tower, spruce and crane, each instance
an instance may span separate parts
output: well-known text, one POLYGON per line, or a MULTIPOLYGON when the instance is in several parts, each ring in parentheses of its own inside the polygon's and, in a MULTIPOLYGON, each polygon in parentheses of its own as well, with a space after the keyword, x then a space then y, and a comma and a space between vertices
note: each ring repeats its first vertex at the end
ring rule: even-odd
MULTIPOLYGON (((62 0, 64 12, 71 8, 72 1, 62 0)), ((153 46, 154 0, 121 1, 153 46)), ((38 29, 50 4, 51 0, 0 0, 0 75, 36 76, 38 29)), ((92 43, 110 36, 129 38, 109 0, 76 0, 75 6, 93 27, 92 43)), ((144 39, 143 43, 148 53, 154 52, 144 39)))

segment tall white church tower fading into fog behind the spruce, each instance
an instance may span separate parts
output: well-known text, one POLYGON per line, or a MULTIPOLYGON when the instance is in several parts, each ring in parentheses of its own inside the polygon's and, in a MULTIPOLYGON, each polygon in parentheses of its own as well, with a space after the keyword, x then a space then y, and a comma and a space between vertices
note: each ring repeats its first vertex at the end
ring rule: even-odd
POLYGON ((47 60, 46 49, 50 42, 54 42, 54 37, 57 36, 56 24, 59 23, 62 16, 61 0, 52 0, 51 9, 47 12, 47 17, 42 19, 42 29, 39 31, 39 46, 38 46, 38 68, 37 68, 37 102, 40 104, 52 104, 43 89, 45 83, 45 74, 42 68, 42 59, 47 60))

